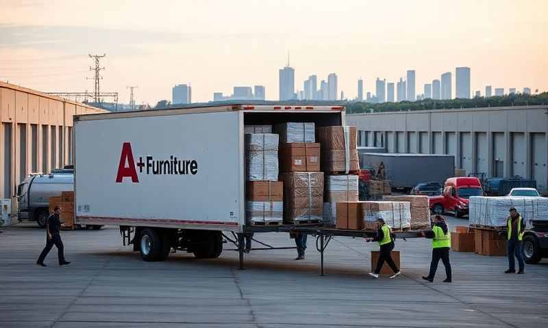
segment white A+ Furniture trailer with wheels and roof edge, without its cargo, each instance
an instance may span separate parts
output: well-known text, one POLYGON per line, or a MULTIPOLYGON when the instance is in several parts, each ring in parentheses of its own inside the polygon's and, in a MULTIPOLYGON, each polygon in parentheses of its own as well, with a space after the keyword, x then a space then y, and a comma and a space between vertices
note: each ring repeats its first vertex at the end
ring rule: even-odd
POLYGON ((171 248, 216 258, 223 231, 242 246, 251 231, 244 126, 282 122, 344 125, 345 111, 272 104, 75 116, 76 222, 120 226, 124 245, 148 261, 171 248))

